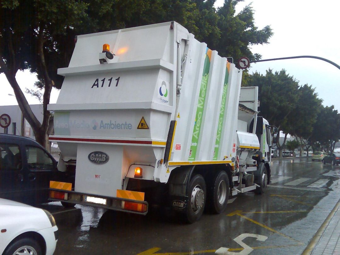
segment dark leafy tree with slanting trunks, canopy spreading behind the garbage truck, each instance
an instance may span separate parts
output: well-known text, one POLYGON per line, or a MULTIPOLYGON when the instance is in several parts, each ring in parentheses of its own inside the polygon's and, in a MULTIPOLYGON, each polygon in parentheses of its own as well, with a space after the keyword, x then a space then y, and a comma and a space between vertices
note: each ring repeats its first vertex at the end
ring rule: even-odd
MULTIPOLYGON (((269 26, 254 26, 250 6, 235 14, 240 0, 226 0, 218 11, 215 0, 3 0, 0 3, 0 73, 11 84, 24 118, 36 140, 49 150, 52 115, 47 111, 52 87, 61 88, 57 69, 67 67, 74 36, 175 20, 222 56, 258 59, 249 46, 268 43, 269 26), (37 74, 43 91, 42 123, 39 123, 21 91, 15 75, 29 69, 37 74)), ((31 91, 31 93, 35 93, 31 91)))

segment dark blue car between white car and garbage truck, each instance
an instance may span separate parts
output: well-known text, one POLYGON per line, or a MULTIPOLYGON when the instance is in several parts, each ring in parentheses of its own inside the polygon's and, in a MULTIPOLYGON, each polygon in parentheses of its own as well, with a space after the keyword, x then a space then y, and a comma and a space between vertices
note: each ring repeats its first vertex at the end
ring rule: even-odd
POLYGON ((33 139, 6 134, 0 134, 0 152, 0 198, 48 202, 49 182, 61 174, 52 155, 33 139))

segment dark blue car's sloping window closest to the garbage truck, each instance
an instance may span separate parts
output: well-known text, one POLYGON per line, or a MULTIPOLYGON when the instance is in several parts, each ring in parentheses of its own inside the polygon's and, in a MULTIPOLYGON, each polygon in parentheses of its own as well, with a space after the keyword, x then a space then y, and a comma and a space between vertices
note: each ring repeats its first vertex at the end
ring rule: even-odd
POLYGON ((27 163, 30 170, 53 170, 51 157, 42 149, 26 146, 27 163))

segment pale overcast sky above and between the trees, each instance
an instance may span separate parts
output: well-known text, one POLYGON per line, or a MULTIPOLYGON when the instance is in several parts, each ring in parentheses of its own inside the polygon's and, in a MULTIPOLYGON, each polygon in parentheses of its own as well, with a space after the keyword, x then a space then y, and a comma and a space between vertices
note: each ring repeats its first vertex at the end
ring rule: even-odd
MULTIPOLYGON (((215 6, 223 2, 217 0, 215 6)), ((237 4, 237 11, 251 2, 245 0, 237 4)), ((262 29, 270 25, 274 33, 269 44, 252 46, 253 53, 261 54, 262 59, 313 55, 340 65, 339 0, 254 0, 252 6, 256 26, 262 29)), ((325 106, 334 105, 340 112, 340 70, 335 66, 302 58, 252 64, 250 73, 265 74, 268 68, 286 69, 300 85, 308 83, 315 87, 325 106)), ((36 78, 29 71, 18 72, 17 81, 24 91, 26 87, 33 88, 36 78)), ((4 74, 0 74, 0 86, 0 105, 16 105, 15 97, 8 95, 14 92, 4 74)), ((55 103, 57 96, 58 91, 53 89, 50 103, 55 103)), ((39 103, 29 95, 27 99, 30 104, 39 103)))

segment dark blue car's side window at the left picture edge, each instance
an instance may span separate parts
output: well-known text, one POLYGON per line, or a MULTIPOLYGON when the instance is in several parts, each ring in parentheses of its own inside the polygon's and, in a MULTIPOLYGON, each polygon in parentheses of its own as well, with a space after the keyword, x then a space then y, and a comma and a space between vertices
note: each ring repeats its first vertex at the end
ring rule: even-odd
POLYGON ((20 170, 22 168, 19 145, 0 143, 0 170, 20 170))

